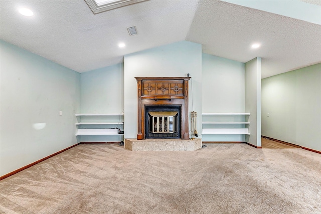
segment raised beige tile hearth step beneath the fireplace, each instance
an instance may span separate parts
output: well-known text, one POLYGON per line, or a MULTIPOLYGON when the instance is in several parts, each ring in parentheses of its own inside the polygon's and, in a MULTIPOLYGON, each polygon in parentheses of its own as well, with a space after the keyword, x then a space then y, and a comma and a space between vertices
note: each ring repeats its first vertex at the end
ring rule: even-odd
POLYGON ((195 151, 202 148, 202 140, 125 139, 125 148, 131 151, 195 151))

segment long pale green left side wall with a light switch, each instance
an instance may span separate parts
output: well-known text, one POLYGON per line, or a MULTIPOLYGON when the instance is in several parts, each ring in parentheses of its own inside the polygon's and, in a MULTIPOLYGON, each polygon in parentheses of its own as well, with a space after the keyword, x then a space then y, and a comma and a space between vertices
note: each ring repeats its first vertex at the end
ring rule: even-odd
POLYGON ((4 41, 0 54, 2 176, 77 143, 80 74, 4 41))

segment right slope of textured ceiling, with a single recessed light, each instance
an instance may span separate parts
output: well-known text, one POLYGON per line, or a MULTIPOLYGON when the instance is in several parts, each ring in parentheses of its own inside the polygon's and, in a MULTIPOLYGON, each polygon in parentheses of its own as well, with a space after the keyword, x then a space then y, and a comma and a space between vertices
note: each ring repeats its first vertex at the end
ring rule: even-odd
POLYGON ((320 25, 225 2, 200 2, 187 40, 240 62, 262 57, 262 77, 321 62, 320 25))

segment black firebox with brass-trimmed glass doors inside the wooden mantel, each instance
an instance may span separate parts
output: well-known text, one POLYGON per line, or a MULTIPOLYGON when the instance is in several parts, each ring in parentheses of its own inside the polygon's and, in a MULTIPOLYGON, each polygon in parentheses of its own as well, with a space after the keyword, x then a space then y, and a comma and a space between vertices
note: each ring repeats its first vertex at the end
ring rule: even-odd
POLYGON ((146 105, 145 138, 181 138, 181 106, 146 105))

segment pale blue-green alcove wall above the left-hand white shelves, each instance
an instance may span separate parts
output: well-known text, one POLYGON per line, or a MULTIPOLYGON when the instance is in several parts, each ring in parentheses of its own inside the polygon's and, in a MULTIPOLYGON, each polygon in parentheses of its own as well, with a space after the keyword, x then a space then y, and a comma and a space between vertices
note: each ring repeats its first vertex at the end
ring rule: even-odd
POLYGON ((81 73, 79 113, 121 113, 124 109, 123 70, 121 63, 81 73))

